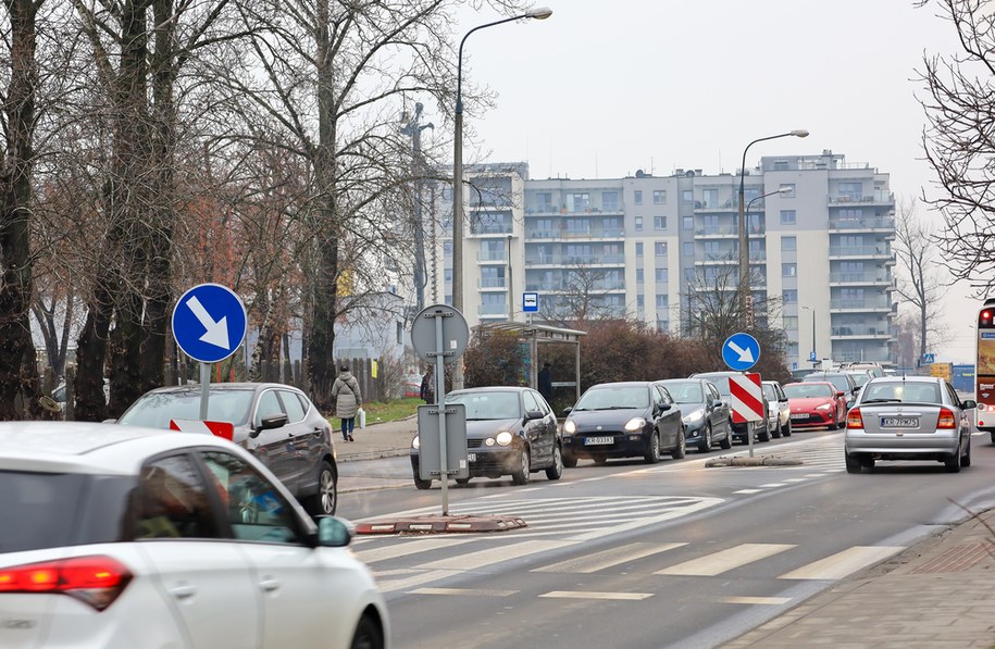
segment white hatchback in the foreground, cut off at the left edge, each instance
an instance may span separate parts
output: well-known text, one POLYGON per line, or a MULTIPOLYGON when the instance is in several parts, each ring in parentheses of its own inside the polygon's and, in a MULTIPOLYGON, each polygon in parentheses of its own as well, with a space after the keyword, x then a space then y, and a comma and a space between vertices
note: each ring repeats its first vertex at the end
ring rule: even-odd
POLYGON ((351 524, 224 439, 2 423, 0 494, 0 647, 389 644, 351 524))

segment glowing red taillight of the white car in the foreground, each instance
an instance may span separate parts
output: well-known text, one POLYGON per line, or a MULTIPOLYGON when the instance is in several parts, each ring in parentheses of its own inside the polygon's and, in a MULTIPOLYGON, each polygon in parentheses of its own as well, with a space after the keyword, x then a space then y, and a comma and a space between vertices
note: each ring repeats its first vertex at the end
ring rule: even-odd
POLYGON ((110 557, 74 557, 0 567, 0 592, 63 592, 102 611, 130 579, 130 571, 110 557))

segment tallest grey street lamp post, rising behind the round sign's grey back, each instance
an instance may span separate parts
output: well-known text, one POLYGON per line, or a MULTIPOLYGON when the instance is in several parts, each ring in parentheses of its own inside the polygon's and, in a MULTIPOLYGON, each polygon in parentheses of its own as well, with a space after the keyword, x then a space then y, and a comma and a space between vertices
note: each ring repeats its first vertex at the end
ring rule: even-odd
MULTIPOLYGON (((474 32, 502 25, 522 18, 545 21, 552 15, 552 10, 542 7, 523 14, 477 25, 460 40, 456 61, 456 113, 453 116, 455 137, 452 138, 452 308, 463 312, 463 45, 474 32)), ((511 299, 509 287, 508 299, 511 299)), ((452 389, 463 387, 463 365, 456 363, 452 369, 452 389)))

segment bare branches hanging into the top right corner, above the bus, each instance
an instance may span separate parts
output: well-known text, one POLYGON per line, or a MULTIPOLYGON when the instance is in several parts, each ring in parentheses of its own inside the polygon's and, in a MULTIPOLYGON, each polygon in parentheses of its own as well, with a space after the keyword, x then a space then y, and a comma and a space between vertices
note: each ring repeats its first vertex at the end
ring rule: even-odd
POLYGON ((928 120, 922 146, 936 173, 937 207, 945 227, 937 234, 941 263, 955 279, 970 282, 984 295, 995 288, 995 21, 987 0, 922 0, 950 23, 960 51, 926 54, 920 98, 928 120))

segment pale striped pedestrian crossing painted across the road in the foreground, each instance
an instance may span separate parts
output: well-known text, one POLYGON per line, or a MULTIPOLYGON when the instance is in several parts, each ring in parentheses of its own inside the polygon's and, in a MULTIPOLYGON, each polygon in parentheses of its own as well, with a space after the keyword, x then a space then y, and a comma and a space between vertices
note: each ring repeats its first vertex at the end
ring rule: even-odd
MULTIPOLYGON (((463 538, 391 538, 393 542, 384 547, 365 549, 364 544, 356 544, 358 557, 364 561, 377 579, 383 592, 411 592, 421 595, 474 595, 480 597, 508 597, 514 590, 481 590, 473 588, 447 588, 433 585, 436 582, 474 571, 487 572, 495 565, 512 561, 534 564, 530 573, 537 574, 575 574, 619 576, 639 565, 640 583, 652 583, 660 579, 661 587, 669 577, 721 577, 729 578, 748 567, 763 567, 776 560, 775 565, 789 565, 784 558, 798 548, 794 544, 753 542, 737 544, 727 548, 699 552, 687 541, 671 540, 662 542, 630 542, 607 550, 583 554, 567 560, 544 561, 552 558, 560 550, 583 548, 584 544, 575 540, 521 539, 507 537, 463 538), (457 546, 476 542, 480 547, 472 551, 457 546), (441 556, 439 556, 441 554, 441 556), (676 557, 680 554, 680 558, 676 557), (402 560, 403 566, 396 565, 402 560)), ((828 557, 808 561, 800 565, 782 571, 775 577, 779 581, 838 581, 860 570, 880 563, 905 550, 905 546, 853 546, 836 551, 828 557)), ((618 599, 613 594, 579 591, 555 591, 539 597, 618 599)), ((651 597, 652 594, 639 594, 637 599, 651 597)), ((625 598, 622 598, 625 599, 625 598)), ((727 601, 732 603, 735 598, 727 601)), ((757 598, 742 597, 738 603, 780 603, 773 601, 753 601, 757 598)))

